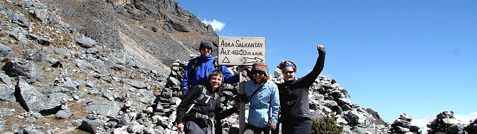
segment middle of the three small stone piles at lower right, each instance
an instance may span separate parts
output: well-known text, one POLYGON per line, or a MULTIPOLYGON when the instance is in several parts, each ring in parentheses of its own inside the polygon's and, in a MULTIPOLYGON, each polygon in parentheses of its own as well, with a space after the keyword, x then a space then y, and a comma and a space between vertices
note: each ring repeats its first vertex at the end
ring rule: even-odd
POLYGON ((436 116, 430 124, 427 124, 427 134, 467 134, 464 131, 465 124, 454 118, 453 111, 444 111, 436 116))

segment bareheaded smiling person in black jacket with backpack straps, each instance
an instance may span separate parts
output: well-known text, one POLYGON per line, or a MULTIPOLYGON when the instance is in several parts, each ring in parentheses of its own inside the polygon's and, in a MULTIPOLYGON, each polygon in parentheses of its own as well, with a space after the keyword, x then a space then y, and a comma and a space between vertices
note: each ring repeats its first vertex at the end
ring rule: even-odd
POLYGON ((222 111, 218 92, 223 80, 222 72, 214 70, 210 73, 208 82, 193 86, 187 91, 177 106, 176 123, 179 133, 215 134, 215 119, 222 120, 238 112, 237 107, 222 111))

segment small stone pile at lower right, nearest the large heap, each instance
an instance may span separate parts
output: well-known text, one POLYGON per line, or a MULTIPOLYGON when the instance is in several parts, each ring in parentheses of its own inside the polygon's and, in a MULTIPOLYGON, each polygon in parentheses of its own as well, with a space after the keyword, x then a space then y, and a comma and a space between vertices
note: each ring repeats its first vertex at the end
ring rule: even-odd
POLYGON ((394 123, 391 125, 389 134, 421 134, 421 130, 417 126, 411 125, 412 118, 403 113, 399 115, 394 123))

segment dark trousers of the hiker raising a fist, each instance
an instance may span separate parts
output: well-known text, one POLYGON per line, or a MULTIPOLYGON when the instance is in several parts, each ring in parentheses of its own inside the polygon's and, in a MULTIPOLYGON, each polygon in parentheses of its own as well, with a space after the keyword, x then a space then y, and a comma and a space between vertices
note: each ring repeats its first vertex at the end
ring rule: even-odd
POLYGON ((281 120, 282 134, 310 134, 312 133, 312 120, 310 118, 298 118, 281 120))

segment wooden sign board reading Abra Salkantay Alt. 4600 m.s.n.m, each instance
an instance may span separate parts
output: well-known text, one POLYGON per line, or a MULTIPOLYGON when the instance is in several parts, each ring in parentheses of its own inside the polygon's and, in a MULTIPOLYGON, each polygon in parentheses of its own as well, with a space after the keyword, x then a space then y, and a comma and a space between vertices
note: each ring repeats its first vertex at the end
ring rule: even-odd
POLYGON ((265 63, 265 37, 219 37, 219 65, 265 63))

